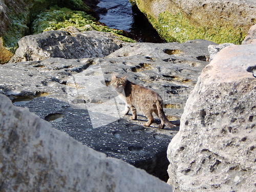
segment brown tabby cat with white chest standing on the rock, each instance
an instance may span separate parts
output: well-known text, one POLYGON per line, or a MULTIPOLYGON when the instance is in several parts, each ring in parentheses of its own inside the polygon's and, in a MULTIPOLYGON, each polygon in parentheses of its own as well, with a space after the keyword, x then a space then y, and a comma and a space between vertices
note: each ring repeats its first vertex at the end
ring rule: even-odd
POLYGON ((118 78, 112 74, 111 84, 118 92, 119 97, 125 102, 125 109, 122 114, 127 115, 132 110, 132 120, 137 119, 137 110, 144 113, 148 121, 144 126, 150 126, 154 122, 152 113, 154 112, 161 120, 158 128, 163 129, 166 125, 173 128, 163 111, 163 100, 155 91, 146 89, 126 79, 127 76, 118 78))

